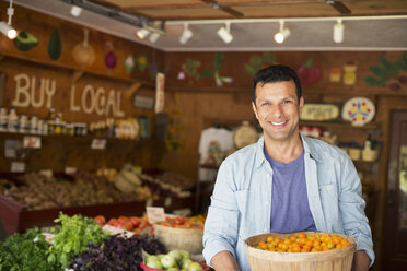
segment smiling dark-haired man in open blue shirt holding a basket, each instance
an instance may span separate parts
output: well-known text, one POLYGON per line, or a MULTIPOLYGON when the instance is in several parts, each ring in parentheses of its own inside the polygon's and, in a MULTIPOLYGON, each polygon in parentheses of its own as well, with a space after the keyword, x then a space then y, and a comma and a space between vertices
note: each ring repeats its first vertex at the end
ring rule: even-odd
POLYGON ((263 137, 224 160, 205 224, 203 256, 216 270, 249 270, 244 239, 269 232, 333 232, 357 241, 353 270, 374 261, 361 182, 340 149, 299 131, 296 73, 270 66, 253 80, 263 137))

